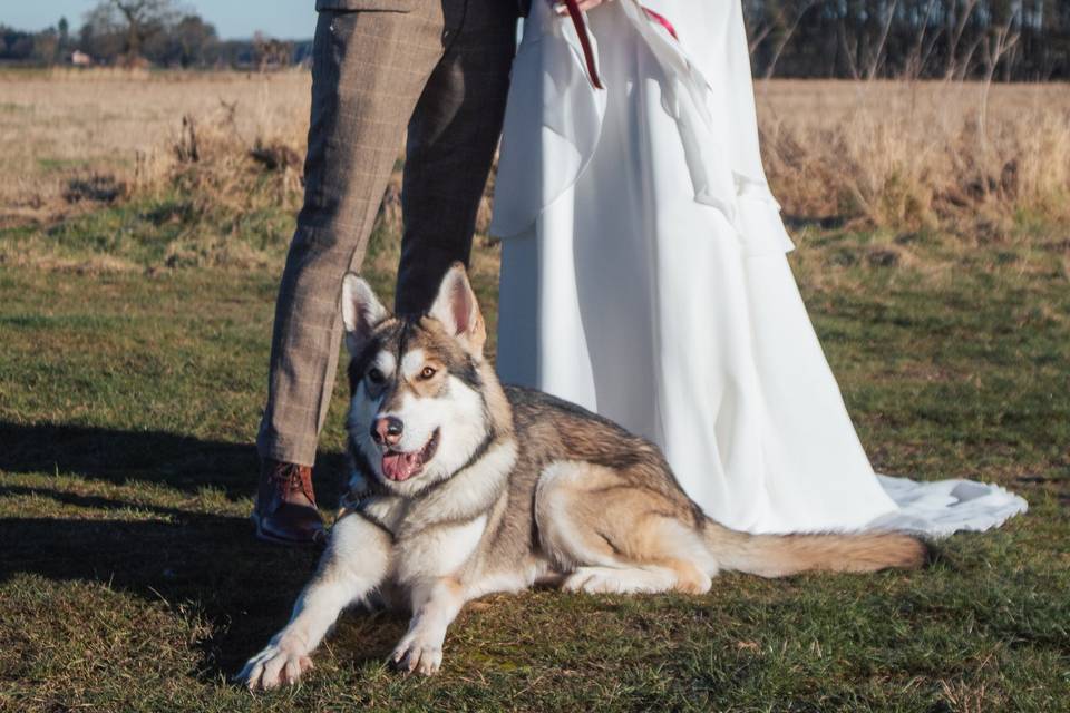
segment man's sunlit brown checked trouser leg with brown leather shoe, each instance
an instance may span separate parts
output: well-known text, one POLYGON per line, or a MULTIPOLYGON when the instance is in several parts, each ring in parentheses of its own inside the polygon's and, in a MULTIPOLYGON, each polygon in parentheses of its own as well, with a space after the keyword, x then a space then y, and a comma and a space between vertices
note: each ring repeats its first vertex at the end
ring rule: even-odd
POLYGON ((311 466, 338 368, 342 276, 360 265, 405 127, 444 52, 438 2, 411 12, 323 12, 315 30, 304 206, 275 306, 264 463, 265 539, 321 530, 311 466))

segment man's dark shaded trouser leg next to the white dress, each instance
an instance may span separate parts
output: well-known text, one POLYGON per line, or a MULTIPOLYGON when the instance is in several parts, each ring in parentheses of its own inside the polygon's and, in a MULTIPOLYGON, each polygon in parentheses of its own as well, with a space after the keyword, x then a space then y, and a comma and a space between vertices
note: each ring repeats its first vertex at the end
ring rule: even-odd
POLYGON ((468 264, 479 199, 502 134, 517 4, 447 3, 446 53, 409 124, 399 314, 425 311, 449 266, 468 264))

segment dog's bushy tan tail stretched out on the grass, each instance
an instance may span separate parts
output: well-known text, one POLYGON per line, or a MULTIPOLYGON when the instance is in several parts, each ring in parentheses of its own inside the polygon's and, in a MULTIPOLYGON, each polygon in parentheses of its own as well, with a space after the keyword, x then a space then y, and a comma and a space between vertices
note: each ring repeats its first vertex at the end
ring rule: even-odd
POLYGON ((916 569, 928 560, 928 546, 901 533, 748 535, 708 520, 702 535, 721 569, 761 577, 916 569))

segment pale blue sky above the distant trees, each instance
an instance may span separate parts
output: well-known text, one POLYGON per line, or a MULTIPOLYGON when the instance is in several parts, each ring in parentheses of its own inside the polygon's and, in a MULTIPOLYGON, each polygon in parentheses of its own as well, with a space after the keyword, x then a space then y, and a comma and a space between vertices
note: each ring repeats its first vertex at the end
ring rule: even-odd
MULTIPOLYGON (((71 30, 81 27, 81 18, 98 0, 3 0, 0 25, 19 30, 42 30, 66 17, 71 30)), ((280 39, 310 39, 315 29, 313 0, 183 0, 223 39, 247 39, 261 30, 280 39)))

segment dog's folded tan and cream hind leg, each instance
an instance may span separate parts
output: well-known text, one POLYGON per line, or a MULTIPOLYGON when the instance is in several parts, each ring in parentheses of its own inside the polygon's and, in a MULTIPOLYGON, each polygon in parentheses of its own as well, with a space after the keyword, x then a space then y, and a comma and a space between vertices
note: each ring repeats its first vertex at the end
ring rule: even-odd
POLYGON ((716 570, 679 505, 619 470, 581 461, 544 469, 535 498, 539 540, 568 590, 709 590, 716 570))

